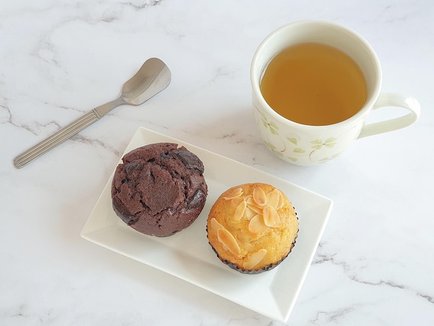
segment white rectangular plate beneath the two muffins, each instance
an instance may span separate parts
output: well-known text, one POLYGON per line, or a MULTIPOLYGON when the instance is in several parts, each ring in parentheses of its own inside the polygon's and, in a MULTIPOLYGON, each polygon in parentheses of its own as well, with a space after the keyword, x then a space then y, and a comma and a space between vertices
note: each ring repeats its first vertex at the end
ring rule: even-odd
POLYGON ((182 232, 165 238, 150 237, 133 230, 112 209, 112 174, 81 236, 260 314, 286 322, 315 255, 333 202, 251 166, 145 128, 137 130, 125 153, 158 142, 185 146, 204 163, 209 193, 197 220, 182 232), (300 223, 297 242, 288 258, 272 271, 258 275, 238 273, 220 262, 209 246, 206 232, 209 209, 218 196, 229 187, 248 182, 266 182, 284 191, 293 203, 300 223))

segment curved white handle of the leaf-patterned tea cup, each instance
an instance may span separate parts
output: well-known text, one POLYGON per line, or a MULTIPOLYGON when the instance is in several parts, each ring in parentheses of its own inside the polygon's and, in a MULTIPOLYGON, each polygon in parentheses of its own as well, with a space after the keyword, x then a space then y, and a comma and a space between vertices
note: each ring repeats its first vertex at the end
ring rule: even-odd
POLYGON ((420 115, 420 104, 412 96, 407 96, 403 94, 394 93, 381 93, 379 98, 376 100, 372 110, 377 110, 384 107, 399 107, 407 109, 408 114, 402 117, 384 120, 380 122, 370 123, 363 127, 358 139, 381 134, 383 132, 389 132, 392 130, 401 129, 412 125, 419 119, 420 115))

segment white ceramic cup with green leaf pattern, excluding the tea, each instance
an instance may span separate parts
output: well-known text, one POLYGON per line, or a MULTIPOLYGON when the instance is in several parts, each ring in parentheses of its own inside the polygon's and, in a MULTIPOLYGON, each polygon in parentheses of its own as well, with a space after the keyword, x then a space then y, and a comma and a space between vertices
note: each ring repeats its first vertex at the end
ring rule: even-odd
POLYGON ((254 53, 250 80, 254 120, 264 143, 277 157, 297 165, 309 166, 332 160, 354 140, 410 126, 420 114, 420 105, 415 98, 380 92, 381 67, 370 44, 349 28, 332 22, 293 22, 272 32, 254 53), (259 85, 268 62, 288 46, 305 42, 333 46, 353 58, 363 71, 367 99, 363 108, 349 119, 329 126, 304 125, 281 117, 264 100, 259 85), (408 112, 402 117, 365 124, 372 110, 385 107, 404 108, 408 112))

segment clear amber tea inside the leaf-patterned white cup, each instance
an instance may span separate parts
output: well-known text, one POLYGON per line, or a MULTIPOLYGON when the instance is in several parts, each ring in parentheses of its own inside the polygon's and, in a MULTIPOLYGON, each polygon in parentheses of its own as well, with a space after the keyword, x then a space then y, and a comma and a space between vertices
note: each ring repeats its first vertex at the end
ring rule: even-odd
POLYGON ((282 117, 311 126, 344 121, 365 105, 363 72, 349 55, 331 46, 303 43, 272 58, 261 93, 282 117))

